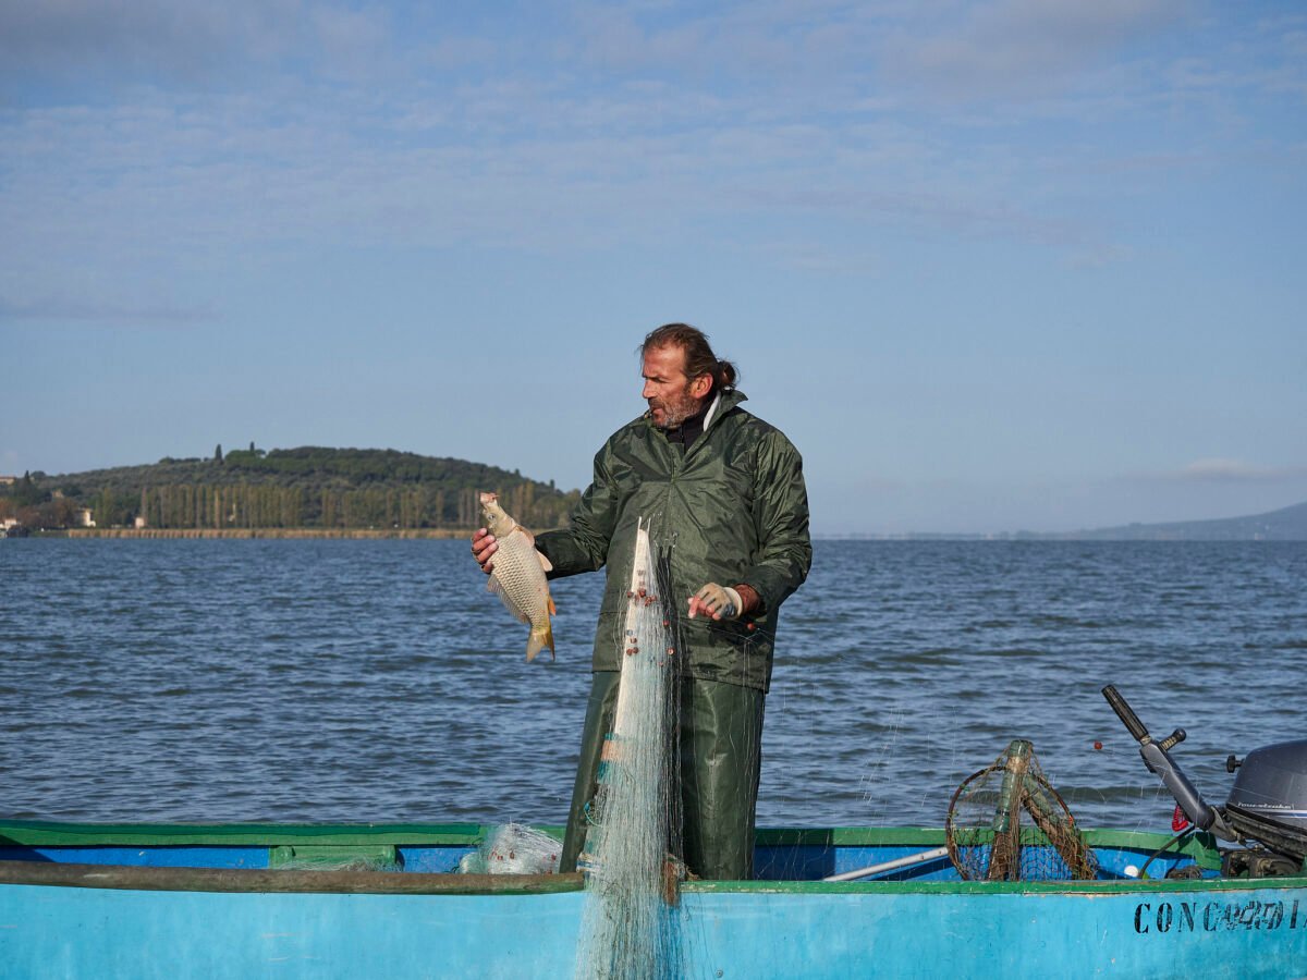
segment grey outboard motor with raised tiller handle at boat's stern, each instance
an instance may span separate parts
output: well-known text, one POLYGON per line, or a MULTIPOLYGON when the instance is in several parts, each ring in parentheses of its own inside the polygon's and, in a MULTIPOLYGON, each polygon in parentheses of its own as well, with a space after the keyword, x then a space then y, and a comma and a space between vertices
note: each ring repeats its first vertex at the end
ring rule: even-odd
POLYGON ((1178 728, 1161 742, 1153 740, 1138 715, 1112 685, 1103 689, 1112 711, 1140 743, 1140 755, 1150 772, 1175 797, 1199 830, 1238 844, 1257 843, 1269 855, 1231 852, 1227 874, 1300 874, 1307 860, 1307 740, 1280 742, 1248 753, 1240 762, 1226 759, 1226 771, 1238 775, 1225 806, 1210 806, 1171 760, 1170 750, 1184 741, 1178 728))

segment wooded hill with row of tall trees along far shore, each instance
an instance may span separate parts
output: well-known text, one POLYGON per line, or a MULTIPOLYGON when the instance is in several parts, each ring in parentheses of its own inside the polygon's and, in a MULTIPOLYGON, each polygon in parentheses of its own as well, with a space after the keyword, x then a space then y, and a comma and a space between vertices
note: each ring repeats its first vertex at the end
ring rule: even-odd
POLYGON ((532 529, 555 528, 580 493, 467 460, 395 449, 248 449, 86 473, 25 474, 0 487, 0 517, 68 527, 88 507, 101 528, 474 528, 494 490, 532 529), (8 491, 8 493, 5 493, 8 491))

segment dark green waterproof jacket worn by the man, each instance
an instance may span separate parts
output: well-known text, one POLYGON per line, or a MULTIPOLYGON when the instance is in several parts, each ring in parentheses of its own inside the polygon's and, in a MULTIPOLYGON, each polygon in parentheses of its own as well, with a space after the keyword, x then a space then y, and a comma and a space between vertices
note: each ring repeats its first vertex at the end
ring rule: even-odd
POLYGON ((670 546, 672 596, 685 670, 766 691, 780 604, 812 566, 802 460, 784 434, 738 408, 745 396, 721 393, 703 434, 689 449, 668 442, 648 414, 614 433, 595 456, 593 482, 565 531, 536 536, 554 570, 549 578, 608 567, 595 631, 595 670, 621 670, 637 523, 651 521, 650 542, 670 546), (685 615, 702 585, 745 584, 762 598, 735 622, 685 615), (749 626, 753 629, 749 629, 749 626))

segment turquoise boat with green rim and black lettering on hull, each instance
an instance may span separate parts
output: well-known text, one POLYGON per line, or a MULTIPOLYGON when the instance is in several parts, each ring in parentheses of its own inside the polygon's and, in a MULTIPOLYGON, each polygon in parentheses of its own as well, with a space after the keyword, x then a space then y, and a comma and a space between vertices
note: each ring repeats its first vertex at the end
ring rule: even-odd
MULTIPOLYGON (((0 822, 0 963, 8 977, 572 975, 582 875, 459 873, 491 830, 0 822)), ((1307 875, 1219 877, 1208 834, 1085 838, 1095 881, 1006 882, 914 860, 944 848, 942 828, 759 830, 754 881, 681 885, 682 975, 1307 973, 1307 875)))

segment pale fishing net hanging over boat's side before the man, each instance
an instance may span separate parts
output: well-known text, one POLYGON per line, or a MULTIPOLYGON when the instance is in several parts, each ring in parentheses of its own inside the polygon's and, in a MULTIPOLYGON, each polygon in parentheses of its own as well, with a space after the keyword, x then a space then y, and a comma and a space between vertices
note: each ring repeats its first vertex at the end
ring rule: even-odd
POLYGON ((587 811, 586 908, 578 977, 681 976, 678 865, 668 856, 678 835, 680 791, 670 751, 678 708, 678 669, 648 532, 638 532, 622 672, 613 732, 603 746, 599 792, 587 811))

